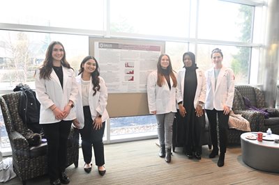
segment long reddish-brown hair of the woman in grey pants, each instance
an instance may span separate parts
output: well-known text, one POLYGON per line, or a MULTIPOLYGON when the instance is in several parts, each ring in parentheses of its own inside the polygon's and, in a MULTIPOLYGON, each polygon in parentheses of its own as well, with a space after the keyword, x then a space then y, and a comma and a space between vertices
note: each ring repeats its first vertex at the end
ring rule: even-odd
MULTIPOLYGON (((165 83, 165 81, 164 81, 165 77, 164 77, 164 74, 163 74, 163 68, 161 67, 161 60, 162 60, 163 56, 167 56, 167 58, 169 58, 169 56, 167 54, 161 54, 159 56, 158 63, 157 63, 157 73, 158 73, 157 85, 159 87, 162 87, 163 84, 165 83)), ((174 82, 173 87, 175 88, 176 84, 177 84, 177 81, 176 81, 176 77, 174 75, 174 71, 172 70, 172 63, 170 61, 170 58, 169 58, 169 66, 167 66, 167 73, 172 78, 172 81, 174 82)))

